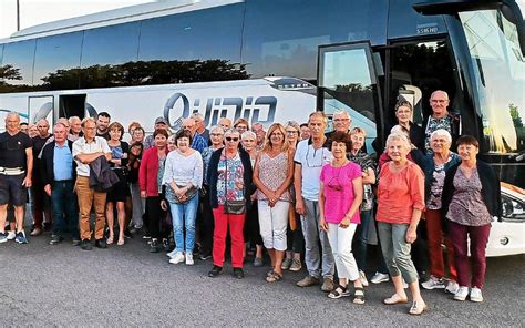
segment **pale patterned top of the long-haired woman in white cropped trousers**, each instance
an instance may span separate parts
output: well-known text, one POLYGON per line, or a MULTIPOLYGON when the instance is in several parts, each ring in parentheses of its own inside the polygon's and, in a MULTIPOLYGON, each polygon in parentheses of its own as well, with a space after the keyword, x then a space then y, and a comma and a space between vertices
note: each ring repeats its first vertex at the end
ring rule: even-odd
MULTIPOLYGON (((259 157, 259 180, 270 191, 277 191, 286 181, 288 174, 288 152, 279 153, 271 158, 262 152, 259 157)), ((267 201, 268 197, 260 189, 257 189, 257 199, 267 201)), ((286 189, 279 201, 290 202, 290 192, 286 189)))

